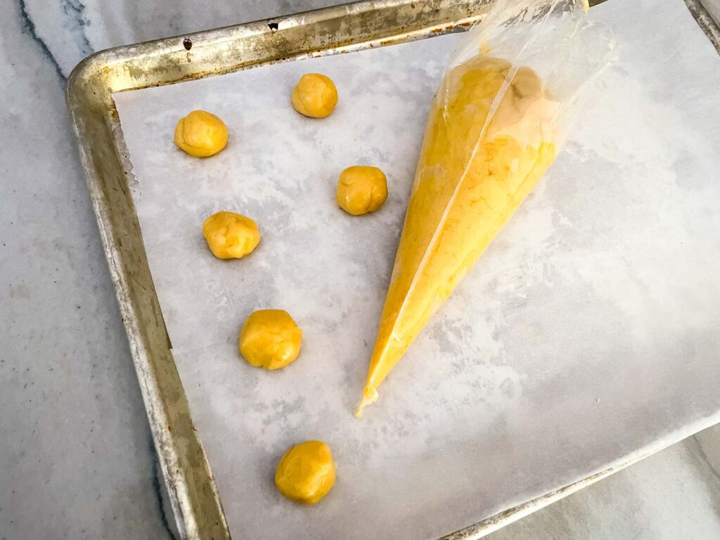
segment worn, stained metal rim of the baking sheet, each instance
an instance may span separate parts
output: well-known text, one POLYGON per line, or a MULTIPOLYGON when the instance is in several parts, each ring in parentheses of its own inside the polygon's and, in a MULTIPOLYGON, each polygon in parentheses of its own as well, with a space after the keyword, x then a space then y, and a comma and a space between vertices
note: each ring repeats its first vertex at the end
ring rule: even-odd
MULTIPOLYGON (((720 28, 700 1, 685 4, 720 53, 720 28)), ((81 163, 181 538, 230 539, 230 531, 171 354, 130 194, 136 180, 112 94, 456 32, 482 19, 491 5, 492 0, 359 1, 105 50, 79 63, 68 78, 66 97, 81 163)), ((660 449, 440 540, 479 539, 660 449)))

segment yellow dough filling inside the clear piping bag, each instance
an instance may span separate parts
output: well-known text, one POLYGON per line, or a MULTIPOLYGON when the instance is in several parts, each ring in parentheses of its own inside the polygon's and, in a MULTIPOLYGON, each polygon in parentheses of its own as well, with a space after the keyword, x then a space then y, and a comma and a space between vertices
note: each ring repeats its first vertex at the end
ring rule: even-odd
POLYGON ((358 418, 554 161, 558 114, 530 68, 481 54, 446 75, 428 119, 358 418))

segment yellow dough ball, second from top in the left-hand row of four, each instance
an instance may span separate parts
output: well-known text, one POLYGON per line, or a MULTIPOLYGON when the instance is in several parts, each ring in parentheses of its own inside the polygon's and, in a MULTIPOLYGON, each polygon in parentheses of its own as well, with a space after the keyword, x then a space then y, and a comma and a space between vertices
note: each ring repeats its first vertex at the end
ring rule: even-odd
POLYGON ((260 231, 249 217, 235 212, 217 212, 202 224, 207 247, 217 258, 243 258, 260 241, 260 231))

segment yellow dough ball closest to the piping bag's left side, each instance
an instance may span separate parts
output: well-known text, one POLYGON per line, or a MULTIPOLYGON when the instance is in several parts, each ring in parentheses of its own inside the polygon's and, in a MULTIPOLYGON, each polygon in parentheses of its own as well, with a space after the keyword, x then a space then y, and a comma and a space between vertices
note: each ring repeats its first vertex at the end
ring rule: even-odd
POLYGON ((335 200, 348 214, 374 212, 385 199, 387 179, 379 168, 356 165, 341 172, 335 200))

